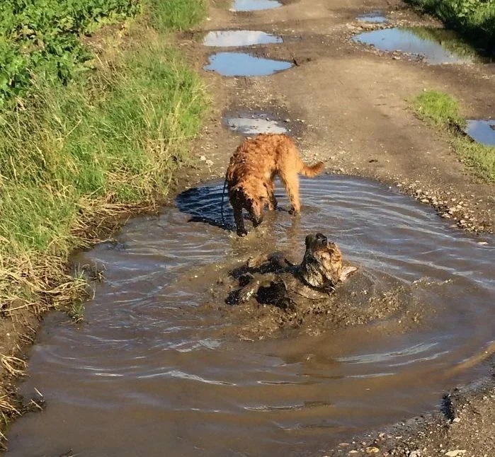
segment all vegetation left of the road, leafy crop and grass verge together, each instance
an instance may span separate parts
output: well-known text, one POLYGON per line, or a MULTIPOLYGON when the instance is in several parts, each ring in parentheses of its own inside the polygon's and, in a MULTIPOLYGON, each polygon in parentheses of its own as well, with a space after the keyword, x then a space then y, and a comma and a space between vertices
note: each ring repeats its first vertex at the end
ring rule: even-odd
POLYGON ((205 13, 203 0, 1 2, 0 320, 54 306, 81 320, 69 254, 166 195, 207 110, 171 32, 205 13))

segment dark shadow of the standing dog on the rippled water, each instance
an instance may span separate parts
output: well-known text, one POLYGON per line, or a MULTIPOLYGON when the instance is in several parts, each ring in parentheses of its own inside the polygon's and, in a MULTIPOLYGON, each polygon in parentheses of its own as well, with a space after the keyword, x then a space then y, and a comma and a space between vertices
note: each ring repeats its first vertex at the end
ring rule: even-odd
POLYGON ((234 214, 229 204, 224 183, 210 183, 181 192, 176 197, 176 206, 190 215, 188 222, 203 222, 224 230, 234 231, 234 214), (223 197, 222 197, 223 195, 223 197))

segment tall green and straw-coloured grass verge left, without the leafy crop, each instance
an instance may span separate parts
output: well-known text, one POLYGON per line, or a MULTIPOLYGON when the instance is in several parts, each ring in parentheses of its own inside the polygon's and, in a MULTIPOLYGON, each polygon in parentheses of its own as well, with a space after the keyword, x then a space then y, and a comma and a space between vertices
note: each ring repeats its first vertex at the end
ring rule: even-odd
POLYGON ((81 224, 166 195, 188 163, 208 100, 170 33, 199 21, 205 6, 160 5, 171 12, 160 30, 147 26, 154 16, 139 18, 91 71, 64 83, 31 74, 29 95, 0 107, 2 303, 35 301, 66 281, 64 263, 85 243, 81 224))

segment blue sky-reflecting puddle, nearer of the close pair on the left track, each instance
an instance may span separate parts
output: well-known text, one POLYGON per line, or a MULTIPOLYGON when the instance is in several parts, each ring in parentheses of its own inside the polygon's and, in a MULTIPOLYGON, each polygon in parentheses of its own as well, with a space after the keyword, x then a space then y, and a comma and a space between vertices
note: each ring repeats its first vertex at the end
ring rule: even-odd
POLYGON ((217 52, 208 60, 210 63, 203 68, 222 76, 267 76, 292 66, 290 62, 255 57, 244 52, 217 52))

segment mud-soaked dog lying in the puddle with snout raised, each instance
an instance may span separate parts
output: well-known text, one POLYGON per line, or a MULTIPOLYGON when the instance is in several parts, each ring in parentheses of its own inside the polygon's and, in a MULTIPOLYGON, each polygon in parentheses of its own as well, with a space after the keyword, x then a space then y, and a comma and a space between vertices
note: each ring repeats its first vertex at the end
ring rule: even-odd
POLYGON ((251 258, 246 265, 232 272, 239 288, 229 294, 227 303, 239 304, 254 298, 260 304, 283 309, 297 308, 301 297, 324 298, 345 282, 357 267, 344 265, 336 243, 330 243, 322 233, 310 234, 299 265, 284 260, 281 255, 251 258))

